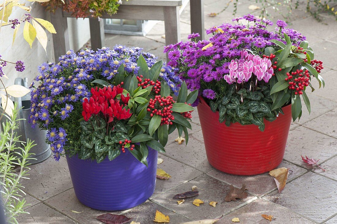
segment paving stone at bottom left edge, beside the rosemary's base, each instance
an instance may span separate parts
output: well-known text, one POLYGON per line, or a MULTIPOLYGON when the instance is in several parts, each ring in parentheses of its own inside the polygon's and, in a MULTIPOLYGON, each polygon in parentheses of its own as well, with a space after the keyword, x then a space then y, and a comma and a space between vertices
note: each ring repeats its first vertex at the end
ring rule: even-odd
POLYGON ((20 224, 68 224, 77 223, 51 207, 40 203, 26 210, 30 214, 22 214, 18 218, 20 224))

